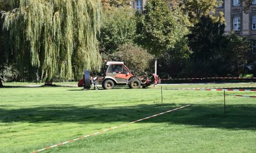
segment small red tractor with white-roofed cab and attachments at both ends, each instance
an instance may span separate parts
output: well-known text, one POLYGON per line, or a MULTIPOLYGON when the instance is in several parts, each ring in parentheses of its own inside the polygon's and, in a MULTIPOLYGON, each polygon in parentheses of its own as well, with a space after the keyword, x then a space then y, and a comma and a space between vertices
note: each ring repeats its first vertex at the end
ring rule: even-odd
POLYGON ((101 82, 103 89, 113 89, 114 86, 128 85, 131 89, 138 89, 140 86, 146 88, 152 84, 160 83, 158 75, 152 74, 150 78, 147 75, 143 77, 135 77, 132 72, 120 61, 108 61, 103 77, 91 77, 88 70, 84 71, 84 77, 78 83, 79 87, 90 89, 94 85, 94 89, 98 89, 97 84, 101 82))

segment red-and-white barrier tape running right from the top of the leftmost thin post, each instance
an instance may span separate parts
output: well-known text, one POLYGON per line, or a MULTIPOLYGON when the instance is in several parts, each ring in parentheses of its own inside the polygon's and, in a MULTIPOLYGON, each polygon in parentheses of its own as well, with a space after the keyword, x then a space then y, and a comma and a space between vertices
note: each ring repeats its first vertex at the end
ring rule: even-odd
MULTIPOLYGON (((236 87, 241 88, 241 87, 236 87)), ((251 87, 247 87, 251 88, 251 87)), ((211 89, 211 88, 179 88, 179 89, 166 89, 166 90, 197 90, 197 91, 234 91, 234 92, 256 92, 256 89, 211 89)))

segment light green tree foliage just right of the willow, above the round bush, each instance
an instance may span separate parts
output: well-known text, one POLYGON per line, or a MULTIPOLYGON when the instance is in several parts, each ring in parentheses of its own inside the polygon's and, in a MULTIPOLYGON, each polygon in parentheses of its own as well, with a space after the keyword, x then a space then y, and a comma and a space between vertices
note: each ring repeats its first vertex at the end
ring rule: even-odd
POLYGON ((101 34, 99 35, 102 54, 116 52, 119 46, 133 43, 136 25, 134 11, 130 8, 105 10, 101 34))

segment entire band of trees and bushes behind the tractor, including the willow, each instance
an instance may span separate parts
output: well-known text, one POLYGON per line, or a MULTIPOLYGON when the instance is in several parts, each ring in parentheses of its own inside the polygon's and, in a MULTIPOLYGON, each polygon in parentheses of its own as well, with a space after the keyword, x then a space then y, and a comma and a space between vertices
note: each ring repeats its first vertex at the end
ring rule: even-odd
POLYGON ((254 74, 252 41, 224 34, 220 3, 148 0, 136 12, 129 0, 0 0, 0 82, 76 80, 108 60, 140 74, 155 58, 163 78, 254 74))

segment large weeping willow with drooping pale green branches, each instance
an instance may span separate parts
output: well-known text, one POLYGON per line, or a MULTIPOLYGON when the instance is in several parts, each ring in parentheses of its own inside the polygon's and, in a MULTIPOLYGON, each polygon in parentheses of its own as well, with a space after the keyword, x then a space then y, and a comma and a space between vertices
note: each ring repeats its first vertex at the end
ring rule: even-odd
POLYGON ((100 0, 20 0, 2 16, 6 59, 14 56, 21 73, 44 81, 98 71, 101 16, 100 0))

